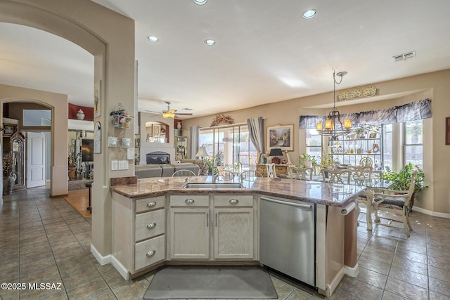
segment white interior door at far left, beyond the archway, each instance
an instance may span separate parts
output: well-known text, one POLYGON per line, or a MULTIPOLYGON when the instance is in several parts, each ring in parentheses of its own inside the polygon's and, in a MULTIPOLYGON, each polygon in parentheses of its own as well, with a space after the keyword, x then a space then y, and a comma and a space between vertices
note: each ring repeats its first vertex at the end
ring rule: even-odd
POLYGON ((27 188, 45 185, 45 133, 27 133, 27 188))

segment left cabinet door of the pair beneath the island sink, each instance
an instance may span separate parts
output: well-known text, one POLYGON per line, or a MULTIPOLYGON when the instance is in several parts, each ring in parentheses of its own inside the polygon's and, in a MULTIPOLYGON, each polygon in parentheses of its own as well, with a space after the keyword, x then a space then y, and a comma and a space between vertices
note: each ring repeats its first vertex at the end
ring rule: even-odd
POLYGON ((209 259, 210 227, 207 208, 170 209, 170 258, 209 259))

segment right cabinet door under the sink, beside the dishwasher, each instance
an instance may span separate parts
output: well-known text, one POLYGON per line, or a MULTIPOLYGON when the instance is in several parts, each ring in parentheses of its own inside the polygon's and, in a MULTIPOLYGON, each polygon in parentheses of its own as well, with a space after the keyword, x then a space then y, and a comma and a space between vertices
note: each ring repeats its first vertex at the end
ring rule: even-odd
POLYGON ((253 258, 253 209, 214 209, 214 259, 253 258))

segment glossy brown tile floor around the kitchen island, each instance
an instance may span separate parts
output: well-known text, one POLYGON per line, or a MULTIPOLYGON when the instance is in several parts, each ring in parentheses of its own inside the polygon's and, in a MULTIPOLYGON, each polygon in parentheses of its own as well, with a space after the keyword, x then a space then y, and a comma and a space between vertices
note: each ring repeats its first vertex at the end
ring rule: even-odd
MULTIPOLYGON (((60 283, 60 289, 2 290, 0 299, 142 299, 152 280, 125 281, 89 251, 91 220, 63 198, 35 188, 4 197, 0 207, 0 282, 60 283)), ((358 228, 359 275, 345 277, 330 299, 449 299, 450 220, 411 215, 413 232, 358 228)), ((278 299, 323 299, 272 277, 278 299)), ((55 286, 58 288, 58 286, 55 286)))

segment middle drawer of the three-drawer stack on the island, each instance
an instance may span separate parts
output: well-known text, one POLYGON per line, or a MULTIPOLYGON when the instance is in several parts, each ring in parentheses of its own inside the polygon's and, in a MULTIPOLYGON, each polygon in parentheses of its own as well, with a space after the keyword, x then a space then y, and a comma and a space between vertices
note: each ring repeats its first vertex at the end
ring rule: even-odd
POLYGON ((156 235, 165 233, 165 210, 158 209, 156 211, 148 211, 144 214, 136 214, 134 221, 135 239, 146 240, 156 235))

